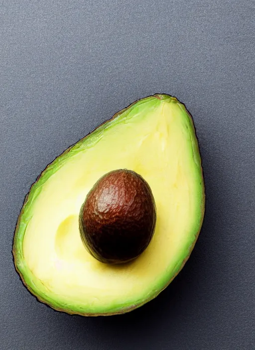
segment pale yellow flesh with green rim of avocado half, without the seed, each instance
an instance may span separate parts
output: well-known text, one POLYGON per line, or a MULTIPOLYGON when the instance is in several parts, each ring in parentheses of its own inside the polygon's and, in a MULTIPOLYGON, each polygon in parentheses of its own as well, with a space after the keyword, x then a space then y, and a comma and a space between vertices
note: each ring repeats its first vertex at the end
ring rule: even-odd
POLYGON ((134 102, 56 158, 32 185, 13 242, 17 271, 37 298, 81 315, 130 311, 164 289, 189 257, 204 214, 192 119, 169 95, 134 102), (100 263, 84 248, 79 211, 104 174, 130 169, 149 184, 154 236, 131 263, 100 263))

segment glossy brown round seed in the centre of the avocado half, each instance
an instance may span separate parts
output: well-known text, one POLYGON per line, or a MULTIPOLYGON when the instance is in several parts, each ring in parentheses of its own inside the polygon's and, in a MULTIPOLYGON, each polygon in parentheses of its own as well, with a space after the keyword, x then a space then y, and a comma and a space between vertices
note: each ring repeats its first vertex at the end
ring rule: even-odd
POLYGON ((79 216, 85 248, 102 263, 126 263, 138 257, 148 246, 155 223, 155 201, 148 183, 127 169, 102 176, 79 216))

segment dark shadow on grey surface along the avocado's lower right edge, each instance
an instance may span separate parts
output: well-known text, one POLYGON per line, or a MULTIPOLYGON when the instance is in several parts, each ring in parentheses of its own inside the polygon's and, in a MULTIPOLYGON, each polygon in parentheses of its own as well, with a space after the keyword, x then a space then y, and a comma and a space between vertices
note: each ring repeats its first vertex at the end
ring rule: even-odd
MULTIPOLYGON (((201 151, 203 151, 203 149, 201 149, 201 151)), ((218 205, 220 206, 220 189, 214 185, 214 182, 207 184, 206 181, 207 174, 210 173, 212 167, 208 155, 206 159, 207 162, 203 163, 206 194, 209 194, 209 197, 210 194, 213 194, 214 198, 217 197, 218 205)), ((217 174, 214 174, 214 176, 217 176, 217 174)), ((144 330, 144 334, 146 334, 153 332, 155 320, 158 328, 160 324, 164 322, 165 318, 174 322, 183 314, 183 310, 189 309, 189 312, 196 313, 196 305, 199 303, 199 290, 203 288, 206 294, 206 291, 213 288, 214 275, 217 273, 210 263, 217 250, 217 246, 212 244, 213 241, 210 240, 210 236, 213 234, 214 230, 211 225, 214 221, 214 212, 210 210, 210 207, 212 207, 212 209, 215 208, 217 203, 207 204, 208 203, 206 203, 201 233, 189 260, 170 285, 155 299, 122 315, 92 317, 89 318, 89 320, 82 316, 72 316, 73 323, 77 326, 86 323, 91 327, 102 328, 105 332, 112 333, 113 335, 116 332, 130 332, 131 334, 137 332, 141 334, 140 326, 143 325, 142 330, 144 330)))

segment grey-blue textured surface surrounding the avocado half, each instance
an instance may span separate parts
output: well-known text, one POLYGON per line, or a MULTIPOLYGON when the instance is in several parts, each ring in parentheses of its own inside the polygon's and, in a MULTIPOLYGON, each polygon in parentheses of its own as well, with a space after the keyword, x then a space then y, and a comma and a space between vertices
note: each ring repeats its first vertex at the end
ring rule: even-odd
POLYGON ((252 0, 0 1, 1 349, 255 349, 254 16, 252 0), (185 102, 200 142, 192 256, 130 314, 55 312, 13 268, 23 198, 70 144, 156 92, 185 102))

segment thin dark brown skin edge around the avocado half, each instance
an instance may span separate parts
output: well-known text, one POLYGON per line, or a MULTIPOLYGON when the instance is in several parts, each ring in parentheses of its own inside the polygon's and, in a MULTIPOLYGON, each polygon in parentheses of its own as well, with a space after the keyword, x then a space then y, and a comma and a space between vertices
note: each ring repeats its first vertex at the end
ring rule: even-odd
MULTIPOLYGON (((144 97, 144 98, 141 98, 141 99, 137 99, 135 100, 134 102, 132 102, 130 105, 128 105, 128 107, 118 111, 116 114, 113 115, 112 118, 110 119, 107 119, 105 120, 103 123, 101 123, 100 125, 98 125, 94 130, 92 130, 90 133, 88 133, 86 136, 84 136, 82 139, 80 139, 78 142, 83 142, 85 141, 85 139, 87 137, 90 136, 90 134, 98 131, 98 130, 102 130, 102 128, 104 128, 104 124, 106 123, 109 123, 111 121, 113 121, 115 118, 117 118, 119 115, 121 115, 122 113, 124 113, 125 111, 127 111, 129 108, 131 108, 133 105, 135 105, 136 103, 140 102, 140 101, 145 101, 149 98, 157 98, 157 99, 167 99, 167 98, 172 98, 172 99, 175 99, 176 101, 178 101, 178 99, 176 97, 173 97, 171 95, 168 95, 168 94, 162 94, 162 93, 156 93, 154 95, 149 95, 147 97, 144 97)), ((195 126, 194 126, 194 123, 193 123, 193 118, 192 118, 192 115, 190 114, 190 112, 187 110, 185 104, 183 102, 181 102, 182 105, 185 107, 186 109, 186 112, 190 118, 190 123, 191 123, 191 127, 196 135, 196 130, 195 130, 195 126)), ((196 138, 197 139, 197 138, 196 138)), ((77 142, 77 143, 78 143, 77 142)), ((76 144, 76 143, 75 143, 76 144)), ((61 157, 67 157, 70 152, 72 152, 72 148, 73 146, 75 145, 71 145, 70 147, 68 147, 62 154, 60 154, 59 156, 57 156, 55 159, 59 158, 60 156, 61 157)), ((124 306, 121 310, 119 311, 115 311, 115 312, 78 312, 78 311, 72 311, 70 310, 68 307, 65 308, 65 307, 60 307, 60 306, 57 306, 55 303, 53 302, 50 302, 49 300, 45 300, 43 297, 41 297, 40 295, 38 295, 32 287, 30 287, 26 282, 25 282, 25 278, 24 276, 22 275, 22 272, 19 270, 19 267, 18 267, 18 263, 19 263, 19 259, 20 259, 20 253, 19 253, 19 249, 18 249, 18 243, 17 243, 17 240, 18 240, 18 232, 19 232, 19 229, 20 229, 20 225, 21 225, 21 218, 22 218, 22 215, 24 213, 24 209, 25 209, 25 205, 27 204, 27 202, 29 201, 29 194, 31 192, 31 190, 33 189, 33 187, 37 184, 38 180, 43 176, 45 175, 52 167, 52 164, 55 162, 55 159, 49 163, 47 165, 47 167, 41 172, 40 175, 37 176, 36 178, 36 181, 30 186, 30 189, 28 191, 28 193, 26 194, 25 198, 24 198, 24 201, 23 201, 23 204, 22 204, 22 207, 21 207, 21 210, 20 210, 20 213, 19 213, 19 216, 18 216, 18 219, 17 219, 17 223, 16 223, 16 226, 15 226, 15 231, 14 231, 14 237, 13 237, 13 245, 12 245, 12 256, 13 256, 13 263, 14 263, 14 267, 15 267, 15 270, 16 272, 18 273, 19 275, 19 278, 21 280, 21 282, 23 283, 23 285, 26 287, 26 289, 30 292, 30 294, 35 297, 39 302, 45 304, 47 307, 50 307, 52 309, 54 309, 55 311, 58 311, 58 312, 65 312, 67 314, 70 314, 70 315, 80 315, 80 316, 86 316, 86 317, 97 317, 97 316, 112 316, 112 315, 120 315, 120 314, 124 314, 124 313, 128 313, 134 309, 137 309, 139 307, 141 307, 142 305, 146 304, 147 302, 153 300, 155 297, 157 297, 171 282, 172 280, 178 275, 178 273, 182 270, 183 266, 185 265, 185 263, 188 261, 189 257, 190 257, 190 254, 192 253, 193 251, 193 248, 197 242, 197 239, 198 239, 198 236, 199 236, 199 233, 200 233, 200 230, 201 230, 201 227, 202 227, 202 224, 203 224, 203 218, 204 218, 204 213, 205 213, 205 186, 204 186, 204 176, 203 176, 203 168, 202 168, 202 165, 201 165, 201 177, 202 177, 202 182, 201 182, 201 185, 202 185, 202 190, 203 190, 203 196, 201 198, 201 204, 200 204, 200 210, 201 210, 201 216, 200 216, 200 225, 198 227, 198 230, 197 230, 197 233, 195 234, 195 238, 194 238, 194 241, 192 243, 192 245, 190 246, 189 248, 189 254, 186 256, 186 258, 183 260, 182 264, 180 265, 180 268, 176 271, 176 273, 171 277, 171 279, 169 279, 167 281, 167 283, 160 289, 160 290, 157 290, 153 295, 151 295, 149 298, 147 298, 146 300, 143 300, 137 304, 133 304, 133 305, 130 305, 130 306, 124 306)))

